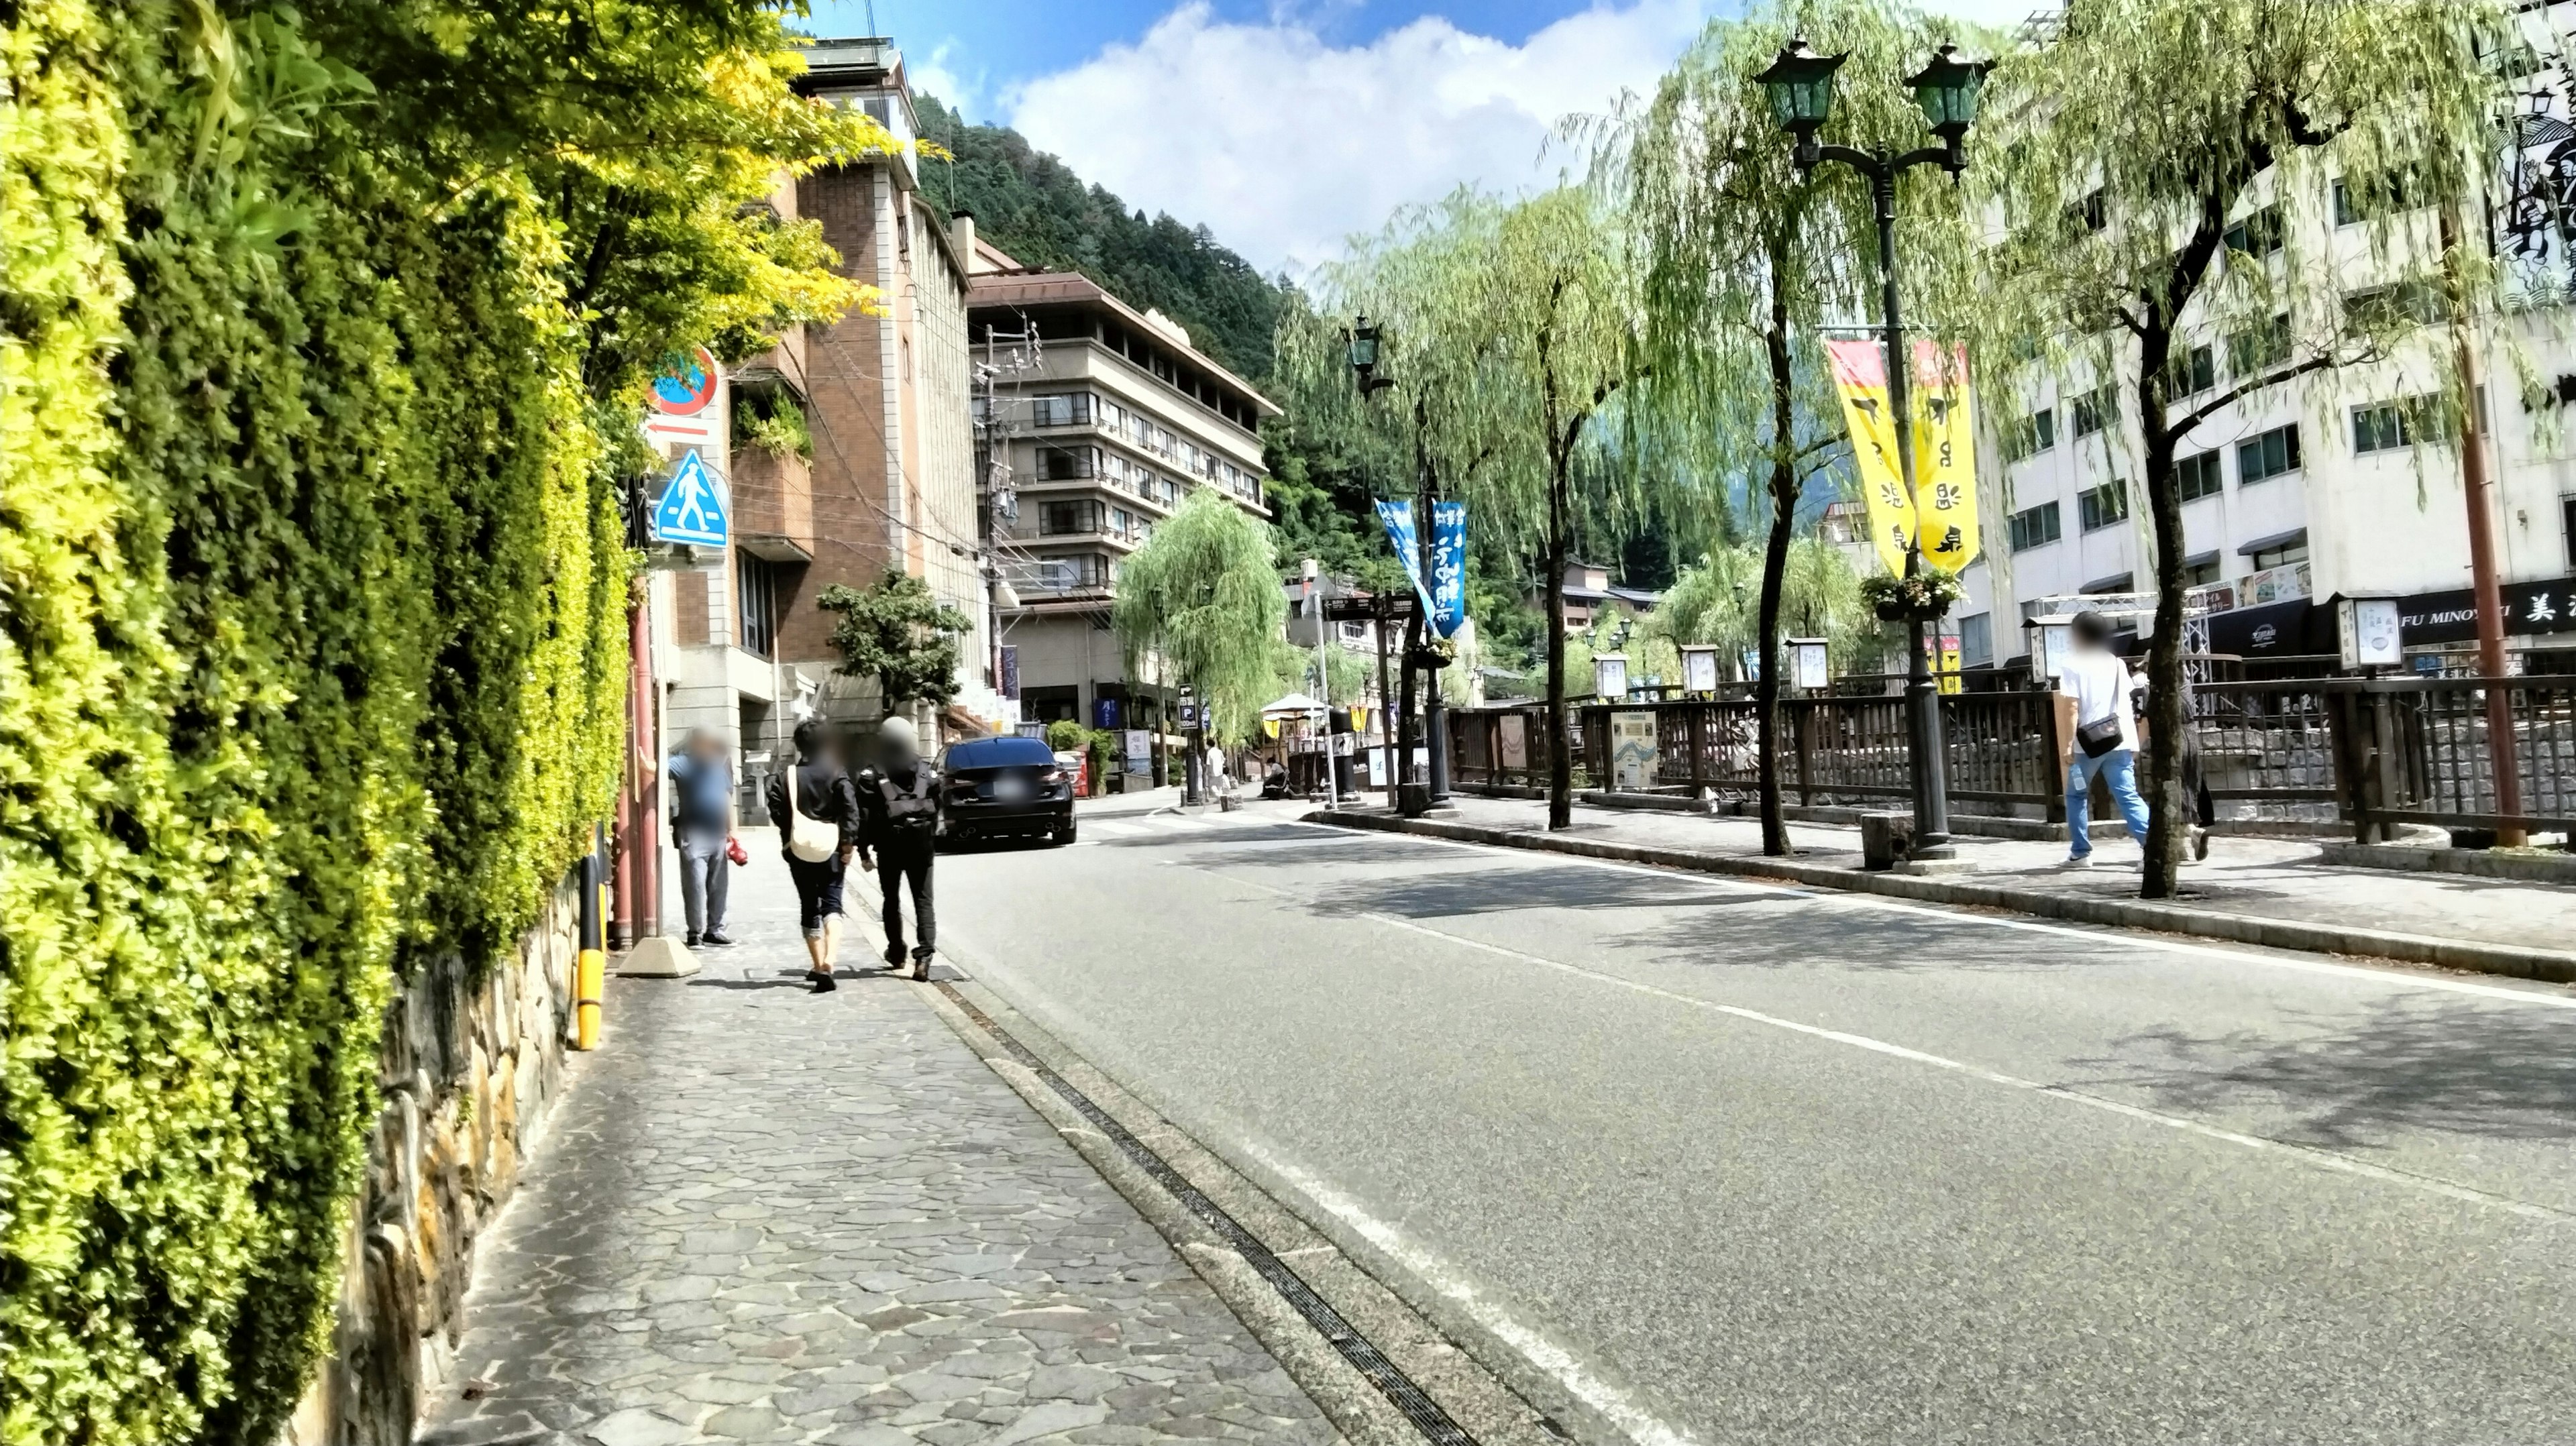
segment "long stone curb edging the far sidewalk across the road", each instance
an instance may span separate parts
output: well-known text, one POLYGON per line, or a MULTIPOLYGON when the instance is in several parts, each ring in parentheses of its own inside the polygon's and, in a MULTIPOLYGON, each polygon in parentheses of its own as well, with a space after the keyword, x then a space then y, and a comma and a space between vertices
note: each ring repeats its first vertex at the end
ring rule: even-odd
POLYGON ((1659 869, 1687 869, 1695 874, 1736 874, 1747 879, 1788 879, 1819 889, 1844 889, 1857 894, 1888 894, 1924 905, 1968 905, 2007 910, 2069 923, 2099 923, 2112 928, 2146 928, 2156 933, 2187 933, 2195 938, 2223 938, 2231 943, 2259 943, 2264 949, 2290 949, 2300 954, 2357 954, 2365 959, 2396 959, 2403 964, 2437 964, 2470 974, 2504 974, 2509 979, 2540 979, 2548 985, 2576 985, 2576 954, 2555 949, 2514 949, 2501 943, 2463 943, 2429 938, 2421 933, 2391 933, 2375 928, 2329 928, 2277 918, 2218 915, 2187 905, 2154 905, 2146 900, 2094 900, 2045 894, 2040 889, 2009 889, 2002 884, 1965 884, 1958 879, 1922 879, 1911 874, 1862 874, 1855 869, 1829 869, 1798 863, 1795 858, 1736 858, 1726 853, 1698 853, 1690 848, 1649 848, 1638 843, 1602 843, 1595 838, 1553 838, 1507 827, 1466 822, 1396 820, 1386 815, 1355 815, 1316 809, 1309 822, 1337 827, 1363 827, 1378 833, 1419 833, 1453 843, 1486 843, 1494 848, 1528 848, 1535 853, 1571 853, 1579 858, 1610 858, 1618 863, 1654 863, 1659 869))

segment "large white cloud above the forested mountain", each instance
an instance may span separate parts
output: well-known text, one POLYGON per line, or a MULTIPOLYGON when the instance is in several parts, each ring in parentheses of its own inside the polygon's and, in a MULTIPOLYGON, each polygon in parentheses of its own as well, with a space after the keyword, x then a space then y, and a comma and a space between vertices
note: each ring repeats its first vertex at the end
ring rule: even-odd
POLYGON ((1229 23, 1193 0, 1005 106, 1030 144, 1131 206, 1206 222, 1265 271, 1303 271, 1396 206, 1577 168, 1540 155, 1556 121, 1649 90, 1708 8, 1597 3, 1520 46, 1422 18, 1337 49, 1301 8, 1229 23))

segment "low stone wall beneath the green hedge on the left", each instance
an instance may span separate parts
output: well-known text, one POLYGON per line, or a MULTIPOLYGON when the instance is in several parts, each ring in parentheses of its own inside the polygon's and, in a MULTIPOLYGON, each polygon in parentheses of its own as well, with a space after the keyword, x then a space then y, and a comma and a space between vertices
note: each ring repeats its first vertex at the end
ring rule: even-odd
POLYGON ((564 1083, 577 949, 580 889, 567 882, 484 979, 451 956, 394 1000, 340 1317, 278 1446, 410 1446, 428 1394, 461 1387, 474 1240, 564 1083))

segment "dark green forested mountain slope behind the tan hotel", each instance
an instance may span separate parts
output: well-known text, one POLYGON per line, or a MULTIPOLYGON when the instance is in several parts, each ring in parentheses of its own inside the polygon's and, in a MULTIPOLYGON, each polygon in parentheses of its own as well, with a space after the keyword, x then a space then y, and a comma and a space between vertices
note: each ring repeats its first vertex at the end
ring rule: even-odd
POLYGON ((1079 271, 1128 307, 1159 309, 1190 327, 1200 351, 1260 384, 1270 376, 1270 327, 1280 286, 1216 245, 1206 224, 1146 219, 1074 168, 1038 152, 1010 126, 976 126, 930 95, 914 95, 922 137, 956 160, 922 165, 922 188, 1023 265, 1079 271))

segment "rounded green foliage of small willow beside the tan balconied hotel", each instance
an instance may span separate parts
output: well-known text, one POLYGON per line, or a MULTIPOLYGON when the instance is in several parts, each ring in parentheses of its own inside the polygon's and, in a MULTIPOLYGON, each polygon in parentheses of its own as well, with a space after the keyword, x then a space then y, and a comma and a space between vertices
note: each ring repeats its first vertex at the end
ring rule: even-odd
POLYGON ((1278 686, 1288 621, 1270 531, 1216 487, 1195 487, 1118 567, 1110 631, 1128 675, 1159 673, 1198 691, 1208 732, 1242 742, 1278 686))

